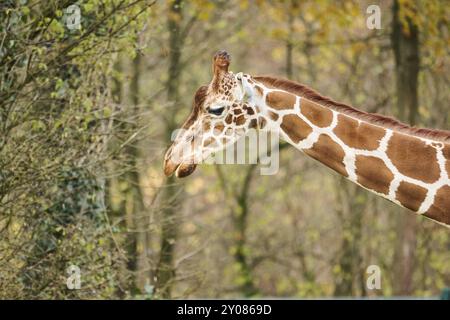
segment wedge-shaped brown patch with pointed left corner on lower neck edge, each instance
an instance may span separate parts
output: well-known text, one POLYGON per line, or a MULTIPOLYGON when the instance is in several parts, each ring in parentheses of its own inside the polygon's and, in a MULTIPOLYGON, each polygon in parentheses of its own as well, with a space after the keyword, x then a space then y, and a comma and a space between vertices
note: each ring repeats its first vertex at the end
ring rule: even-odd
POLYGON ((317 140, 313 147, 305 149, 304 152, 344 177, 348 176, 343 163, 345 152, 341 146, 334 142, 328 135, 320 135, 319 140, 317 140))

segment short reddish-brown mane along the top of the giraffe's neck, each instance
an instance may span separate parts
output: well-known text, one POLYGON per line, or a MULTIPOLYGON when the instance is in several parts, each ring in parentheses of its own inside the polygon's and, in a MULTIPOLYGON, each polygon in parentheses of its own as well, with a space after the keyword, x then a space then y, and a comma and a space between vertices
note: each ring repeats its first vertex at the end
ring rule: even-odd
POLYGON ((329 107, 338 112, 342 112, 343 114, 349 115, 351 117, 367 121, 369 123, 397 130, 402 133, 430 139, 437 140, 446 143, 450 143, 450 131, 447 130, 439 130, 439 129, 427 129, 427 128, 416 128, 411 127, 403 122, 398 121, 392 117, 380 115, 377 113, 368 113, 365 111, 361 111, 353 108, 350 105, 336 102, 329 97, 322 96, 317 91, 303 85, 296 83, 294 81, 290 81, 282 78, 275 78, 270 76, 256 76, 253 77, 256 81, 263 83, 268 87, 272 87, 274 89, 282 89, 288 91, 290 93, 300 95, 301 97, 305 97, 311 101, 319 103, 323 106, 329 107))

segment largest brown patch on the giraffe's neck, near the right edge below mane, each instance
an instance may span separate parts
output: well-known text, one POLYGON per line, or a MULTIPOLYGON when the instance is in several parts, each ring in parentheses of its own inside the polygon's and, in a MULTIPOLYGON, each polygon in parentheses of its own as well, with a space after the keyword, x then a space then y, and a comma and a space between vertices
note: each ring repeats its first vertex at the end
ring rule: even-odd
POLYGON ((439 179, 437 151, 416 137, 394 133, 386 151, 397 170, 410 178, 433 183, 439 179))

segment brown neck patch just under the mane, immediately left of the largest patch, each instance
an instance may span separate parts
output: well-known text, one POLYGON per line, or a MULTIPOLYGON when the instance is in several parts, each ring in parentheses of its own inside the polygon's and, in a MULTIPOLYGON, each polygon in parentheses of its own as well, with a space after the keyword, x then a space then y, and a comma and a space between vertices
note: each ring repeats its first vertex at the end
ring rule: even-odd
POLYGON ((355 149, 376 150, 380 140, 386 134, 386 130, 367 122, 352 119, 343 114, 338 114, 338 123, 333 129, 336 136, 347 146, 355 149))

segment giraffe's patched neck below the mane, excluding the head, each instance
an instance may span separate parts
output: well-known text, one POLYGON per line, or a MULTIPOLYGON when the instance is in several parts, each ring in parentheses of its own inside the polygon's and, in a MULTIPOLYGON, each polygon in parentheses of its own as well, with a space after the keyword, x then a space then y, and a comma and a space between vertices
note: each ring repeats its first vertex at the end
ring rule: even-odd
POLYGON ((260 127, 279 131, 359 186, 450 226, 450 144, 382 127, 263 83, 252 88, 260 127))

